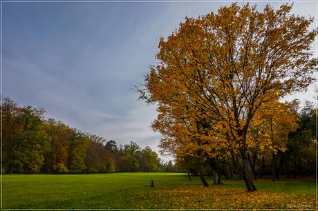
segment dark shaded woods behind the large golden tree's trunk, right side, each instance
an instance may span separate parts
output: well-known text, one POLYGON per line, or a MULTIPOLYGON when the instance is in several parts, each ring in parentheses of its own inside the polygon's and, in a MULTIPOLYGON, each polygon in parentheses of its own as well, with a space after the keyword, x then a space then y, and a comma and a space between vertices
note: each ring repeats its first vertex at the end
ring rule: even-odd
MULTIPOLYGON (((310 101, 299 111, 297 115, 297 130, 288 133, 286 148, 273 151, 272 148, 261 148, 255 146, 247 152, 248 160, 251 163, 254 179, 264 177, 273 181, 283 177, 312 176, 316 173, 317 153, 317 113, 315 106, 310 101)), ((265 127, 265 125, 263 125, 265 127)), ((276 125, 277 128, 287 125, 276 125)), ((288 130, 288 128, 285 128, 288 130)), ((259 131, 254 131, 257 134, 259 131)), ((200 175, 200 165, 196 157, 178 157, 176 168, 186 170, 189 175, 200 175)), ((221 175, 226 179, 232 178, 235 174, 239 176, 231 156, 223 159, 212 159, 205 157, 202 164, 202 174, 214 177, 214 183, 221 183, 221 175)), ((240 176, 239 176, 240 177, 240 176)))

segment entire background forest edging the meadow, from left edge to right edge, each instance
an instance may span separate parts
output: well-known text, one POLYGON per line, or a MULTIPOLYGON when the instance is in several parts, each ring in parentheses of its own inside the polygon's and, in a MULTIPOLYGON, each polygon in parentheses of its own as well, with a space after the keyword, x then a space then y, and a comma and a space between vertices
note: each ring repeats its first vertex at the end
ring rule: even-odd
MULTIPOLYGON (((297 130, 288 134, 286 150, 276 154, 249 154, 254 177, 279 179, 312 175, 316 171, 316 110, 309 101, 298 108, 297 130)), ((198 175, 196 158, 176 156, 176 164, 163 162, 149 147, 131 141, 117 145, 95 134, 80 132, 61 121, 46 119, 43 108, 18 106, 6 97, 1 104, 3 173, 93 173, 93 172, 188 172, 198 175)), ((220 179, 236 172, 230 157, 205 159, 203 174, 220 179), (216 176, 217 175, 217 176, 216 176)), ((216 181, 217 183, 217 181, 216 181)))

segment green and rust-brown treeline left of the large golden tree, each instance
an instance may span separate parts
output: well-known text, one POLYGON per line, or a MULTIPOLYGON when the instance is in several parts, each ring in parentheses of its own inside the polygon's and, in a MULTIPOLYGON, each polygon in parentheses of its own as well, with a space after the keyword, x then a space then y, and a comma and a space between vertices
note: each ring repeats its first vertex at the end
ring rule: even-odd
POLYGON ((131 141, 117 145, 46 119, 44 109, 1 104, 3 173, 89 173, 169 171, 151 148, 131 141))

